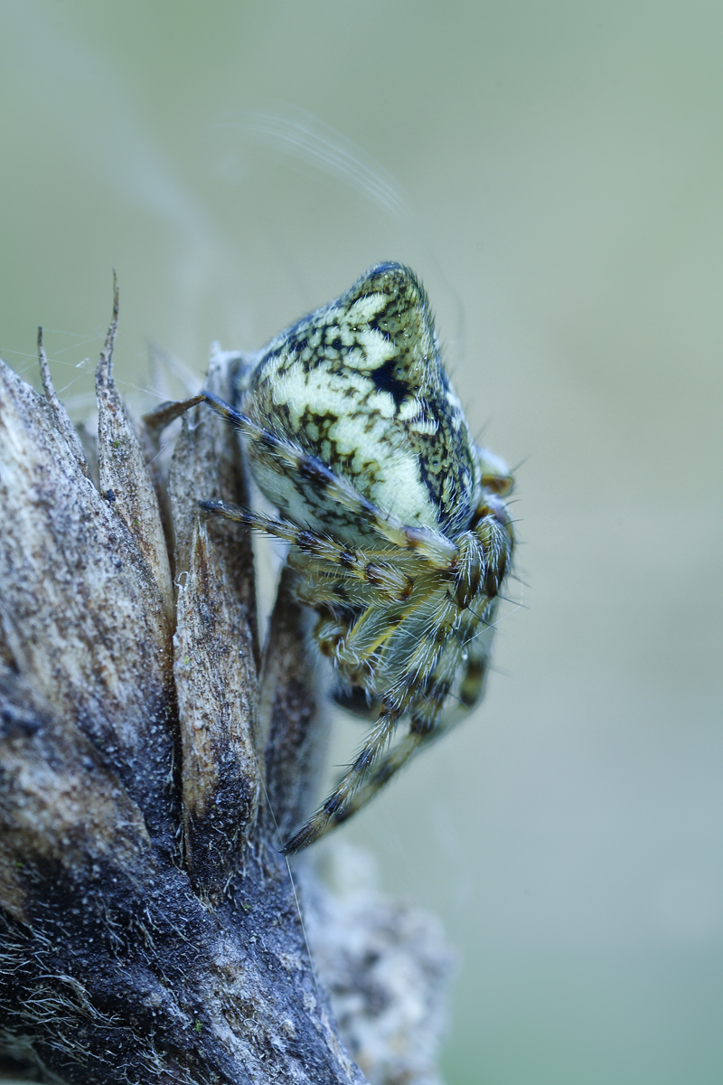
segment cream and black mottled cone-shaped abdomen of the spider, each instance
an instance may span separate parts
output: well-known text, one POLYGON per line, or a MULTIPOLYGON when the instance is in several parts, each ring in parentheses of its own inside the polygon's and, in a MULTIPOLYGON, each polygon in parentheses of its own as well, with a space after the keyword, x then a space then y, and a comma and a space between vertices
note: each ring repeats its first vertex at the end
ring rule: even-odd
MULTIPOLYGON (((468 523, 479 470, 426 295, 408 268, 372 268, 277 335, 248 374, 243 407, 404 523, 446 533, 468 523)), ((261 488, 292 519, 323 529, 338 520, 305 480, 270 480, 255 447, 251 457, 261 488)))

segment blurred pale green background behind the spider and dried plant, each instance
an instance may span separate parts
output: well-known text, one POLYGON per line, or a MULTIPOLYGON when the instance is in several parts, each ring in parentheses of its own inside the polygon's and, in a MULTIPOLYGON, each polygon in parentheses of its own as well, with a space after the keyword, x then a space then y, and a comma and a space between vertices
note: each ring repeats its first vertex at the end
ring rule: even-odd
POLYGON ((5 360, 43 323, 82 414, 115 266, 147 406, 149 341, 202 372, 405 260, 521 464, 487 700, 343 830, 459 949, 448 1085, 719 1085, 723 7, 0 16, 5 360))

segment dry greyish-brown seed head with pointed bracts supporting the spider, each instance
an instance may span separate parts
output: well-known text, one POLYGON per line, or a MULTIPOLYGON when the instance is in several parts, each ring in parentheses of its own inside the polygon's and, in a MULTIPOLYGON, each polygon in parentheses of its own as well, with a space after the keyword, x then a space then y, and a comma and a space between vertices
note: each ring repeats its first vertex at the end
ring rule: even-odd
MULTIPOLYGON (((78 1085, 362 1083, 277 851, 322 764, 308 616, 284 573, 260 652, 250 539, 197 514, 246 501, 234 434, 189 411, 164 477, 114 385, 116 316, 99 486, 44 356, 44 397, 0 362, 0 1051, 78 1085)), ((210 391, 232 369, 215 354, 210 391)), ((434 1082, 434 924, 300 873, 369 1080, 434 1082)))

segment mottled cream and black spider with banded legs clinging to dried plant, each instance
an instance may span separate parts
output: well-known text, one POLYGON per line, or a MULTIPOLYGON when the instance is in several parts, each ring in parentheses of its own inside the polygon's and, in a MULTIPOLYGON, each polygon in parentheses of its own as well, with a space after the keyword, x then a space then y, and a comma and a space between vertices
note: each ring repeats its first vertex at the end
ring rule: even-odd
POLYGON ((337 700, 373 720, 284 845, 291 854, 361 809, 480 700, 514 548, 503 500, 513 478, 474 445, 425 292, 400 264, 372 267, 251 361, 240 409, 202 398, 241 431, 280 515, 201 506, 289 544, 337 700))

